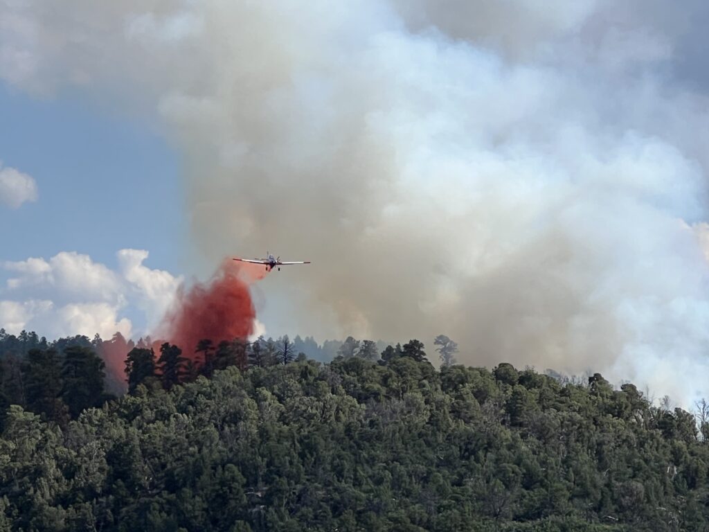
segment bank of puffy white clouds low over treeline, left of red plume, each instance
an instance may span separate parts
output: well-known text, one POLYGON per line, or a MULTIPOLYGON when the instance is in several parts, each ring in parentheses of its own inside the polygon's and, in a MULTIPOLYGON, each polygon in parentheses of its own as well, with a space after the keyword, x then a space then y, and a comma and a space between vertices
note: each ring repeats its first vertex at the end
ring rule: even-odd
POLYGON ((182 279, 143 265, 147 251, 126 249, 117 255, 117 271, 75 252, 0 262, 0 269, 11 274, 0 290, 0 327, 48 337, 144 335, 162 318, 182 279), (137 329, 128 316, 138 316, 137 329))

